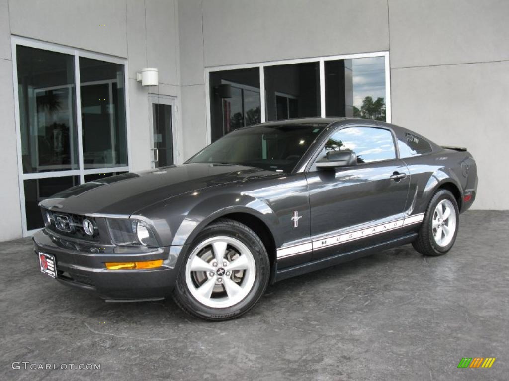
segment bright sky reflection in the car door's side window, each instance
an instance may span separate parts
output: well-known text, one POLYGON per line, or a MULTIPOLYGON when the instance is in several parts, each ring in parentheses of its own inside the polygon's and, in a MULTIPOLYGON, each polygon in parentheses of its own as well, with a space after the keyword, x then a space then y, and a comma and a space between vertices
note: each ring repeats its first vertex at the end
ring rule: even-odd
POLYGON ((333 138, 343 142, 342 149, 351 149, 366 163, 395 157, 392 135, 386 130, 353 127, 337 132, 333 138))

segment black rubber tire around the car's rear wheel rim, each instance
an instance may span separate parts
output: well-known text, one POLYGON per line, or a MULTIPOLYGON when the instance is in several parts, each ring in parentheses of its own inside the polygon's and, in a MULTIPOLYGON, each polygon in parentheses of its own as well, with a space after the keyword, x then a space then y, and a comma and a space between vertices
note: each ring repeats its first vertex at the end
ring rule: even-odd
POLYGON ((426 214, 424 219, 422 220, 422 224, 420 226, 419 232, 417 234, 417 238, 412 242, 412 246, 415 250, 420 252, 425 256, 438 257, 444 255, 447 251, 453 247, 454 242, 456 241, 456 236, 458 235, 459 228, 459 210, 458 203, 447 189, 438 189, 433 198, 428 205, 428 209, 426 210, 426 214), (436 243, 435 238, 433 236, 433 215, 435 213, 435 209, 442 200, 448 200, 453 204, 454 209, 456 211, 456 229, 454 232, 453 239, 446 246, 440 246, 436 243))

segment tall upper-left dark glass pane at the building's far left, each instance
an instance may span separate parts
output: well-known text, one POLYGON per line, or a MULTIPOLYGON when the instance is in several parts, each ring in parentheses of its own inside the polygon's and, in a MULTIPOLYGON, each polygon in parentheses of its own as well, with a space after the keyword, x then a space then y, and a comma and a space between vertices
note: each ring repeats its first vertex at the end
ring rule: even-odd
POLYGON ((78 169, 74 56, 16 46, 23 173, 78 169))

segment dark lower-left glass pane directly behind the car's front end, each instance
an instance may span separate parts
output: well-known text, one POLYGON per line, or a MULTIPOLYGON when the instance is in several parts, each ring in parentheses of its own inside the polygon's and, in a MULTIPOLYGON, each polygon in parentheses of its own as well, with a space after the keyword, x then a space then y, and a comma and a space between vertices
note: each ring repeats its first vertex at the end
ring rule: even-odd
POLYGON ((49 177, 43 179, 24 180, 26 229, 44 227, 39 203, 62 190, 78 185, 78 176, 49 177))

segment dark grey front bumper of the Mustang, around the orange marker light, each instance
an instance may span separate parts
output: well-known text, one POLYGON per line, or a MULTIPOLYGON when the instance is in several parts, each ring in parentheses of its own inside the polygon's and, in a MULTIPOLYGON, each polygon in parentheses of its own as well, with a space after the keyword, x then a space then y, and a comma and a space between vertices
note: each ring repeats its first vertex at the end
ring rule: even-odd
POLYGON ((128 247, 70 240, 43 229, 33 236, 34 250, 55 257, 56 280, 107 300, 164 298, 172 293, 183 246, 128 247), (147 270, 107 270, 106 262, 163 260, 147 270))

